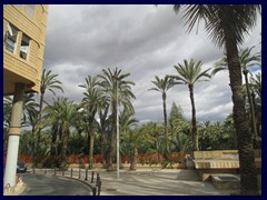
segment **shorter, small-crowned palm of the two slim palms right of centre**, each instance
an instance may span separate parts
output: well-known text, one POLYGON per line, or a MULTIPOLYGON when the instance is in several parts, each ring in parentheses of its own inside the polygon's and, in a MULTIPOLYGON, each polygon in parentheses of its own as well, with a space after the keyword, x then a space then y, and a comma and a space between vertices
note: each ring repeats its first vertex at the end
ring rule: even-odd
POLYGON ((167 99, 167 91, 172 88, 176 83, 169 76, 165 76, 164 79, 159 79, 158 76, 155 76, 156 81, 151 81, 156 88, 151 88, 149 90, 155 90, 161 92, 162 101, 164 101, 164 120, 165 120, 165 150, 166 152, 169 151, 169 142, 168 142, 168 121, 167 121, 167 107, 166 107, 166 99, 167 99))

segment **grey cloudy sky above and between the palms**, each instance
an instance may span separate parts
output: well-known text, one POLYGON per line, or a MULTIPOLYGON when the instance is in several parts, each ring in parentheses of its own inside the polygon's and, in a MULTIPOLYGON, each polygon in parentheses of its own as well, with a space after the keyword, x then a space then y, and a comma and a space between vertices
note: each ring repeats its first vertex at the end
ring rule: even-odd
MULTIPOLYGON (((79 103, 87 76, 102 69, 118 67, 131 73, 136 82, 134 107, 141 121, 162 121, 161 94, 148 91, 155 76, 176 74, 174 66, 184 59, 201 60, 204 69, 212 67, 224 52, 208 39, 202 26, 191 33, 185 20, 175 14, 171 6, 49 6, 44 64, 58 73, 65 93, 79 103)), ((243 47, 256 46, 260 50, 261 17, 247 36, 243 47)), ((255 70, 254 73, 260 71, 255 70)), ((46 99, 52 98, 47 93, 46 99)), ((216 74, 209 82, 195 86, 197 120, 222 121, 233 109, 228 72, 216 74)), ((167 93, 168 113, 176 102, 190 119, 191 106, 186 86, 176 86, 167 93)))

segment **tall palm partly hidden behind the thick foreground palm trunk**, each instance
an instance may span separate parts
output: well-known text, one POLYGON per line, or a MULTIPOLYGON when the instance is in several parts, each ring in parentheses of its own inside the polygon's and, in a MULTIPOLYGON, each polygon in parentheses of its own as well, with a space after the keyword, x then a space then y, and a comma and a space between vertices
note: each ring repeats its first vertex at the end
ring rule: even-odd
MULTIPOLYGON (((248 103, 250 108, 250 116, 251 116, 251 122, 253 122, 253 130, 254 130, 254 140, 256 143, 256 140, 258 138, 257 133, 257 126, 256 126, 256 120, 255 120, 255 109, 249 91, 249 82, 248 82, 248 73, 250 73, 249 68, 255 67, 255 66, 260 66, 260 54, 259 52, 251 54, 251 50, 255 47, 251 48, 246 48, 241 49, 239 53, 239 60, 243 69, 243 74, 245 77, 245 86, 246 86, 246 93, 248 97, 248 103)), ((228 70, 228 63, 227 63, 227 57, 225 56, 219 62, 216 62, 215 69, 212 71, 212 74, 216 74, 217 72, 221 70, 228 70)))

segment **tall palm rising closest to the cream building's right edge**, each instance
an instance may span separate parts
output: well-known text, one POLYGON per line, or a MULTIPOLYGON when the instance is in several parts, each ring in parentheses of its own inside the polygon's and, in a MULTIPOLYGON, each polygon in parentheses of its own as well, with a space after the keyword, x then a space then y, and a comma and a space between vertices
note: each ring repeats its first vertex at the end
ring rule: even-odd
MULTIPOLYGON (((39 109, 39 120, 41 121, 41 111, 42 111, 42 107, 43 107, 43 102, 44 102, 44 93, 47 90, 49 90, 50 92, 52 92, 53 96, 56 96, 55 89, 60 90, 63 92, 63 89, 61 87, 61 82, 57 79, 58 74, 52 73, 51 70, 47 71, 46 69, 43 69, 42 71, 42 77, 41 77, 41 84, 40 84, 40 109, 39 109)), ((40 142, 40 133, 41 133, 41 129, 39 129, 38 131, 38 139, 37 139, 37 154, 38 154, 38 148, 39 148, 39 142, 40 142)), ((37 163, 36 163, 37 164, 37 163)))

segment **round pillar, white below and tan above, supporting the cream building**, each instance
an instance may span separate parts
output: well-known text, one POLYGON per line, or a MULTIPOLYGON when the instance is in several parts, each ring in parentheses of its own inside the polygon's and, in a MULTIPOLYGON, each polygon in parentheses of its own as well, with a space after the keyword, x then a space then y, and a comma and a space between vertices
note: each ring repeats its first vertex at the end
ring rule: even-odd
POLYGON ((9 127, 8 152, 4 170, 4 186, 16 186, 16 171, 19 152, 20 126, 23 112, 23 96, 26 84, 16 83, 11 120, 9 127))

